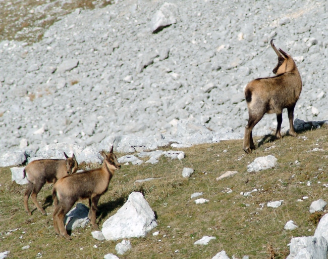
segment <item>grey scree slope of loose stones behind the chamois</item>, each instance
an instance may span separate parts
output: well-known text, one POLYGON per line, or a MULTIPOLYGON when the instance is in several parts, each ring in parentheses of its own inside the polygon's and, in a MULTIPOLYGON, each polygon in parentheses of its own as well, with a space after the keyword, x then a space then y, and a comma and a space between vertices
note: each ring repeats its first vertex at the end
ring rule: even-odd
MULTIPOLYGON (((97 146, 120 134, 174 136, 177 119, 243 133, 243 90, 273 75, 274 35, 303 79, 295 118, 328 118, 325 1, 168 3, 175 23, 156 33, 165 1, 127 0, 77 9, 33 45, 1 41, 0 150, 97 146)), ((286 127, 287 112, 283 117, 286 127)), ((275 115, 265 115, 255 131, 276 125, 275 115)))

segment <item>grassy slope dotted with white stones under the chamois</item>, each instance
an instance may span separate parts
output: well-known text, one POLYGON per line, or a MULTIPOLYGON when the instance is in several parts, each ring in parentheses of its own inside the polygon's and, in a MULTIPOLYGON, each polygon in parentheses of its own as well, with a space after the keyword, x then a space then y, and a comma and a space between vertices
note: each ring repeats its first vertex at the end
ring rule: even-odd
MULTIPOLYGON (((132 191, 141 191, 158 217, 158 227, 152 232, 160 234, 152 236, 150 232, 145 238, 130 239, 132 250, 120 258, 211 258, 222 249, 230 257, 248 254, 250 258, 271 258, 275 253, 276 258, 285 258, 292 237, 313 235, 315 231, 314 221, 309 221, 311 202, 328 200, 323 186, 328 183, 327 133, 328 129, 321 128, 274 142, 270 142, 271 137, 263 138, 252 155, 244 155, 241 140, 224 141, 184 149, 186 158, 182 161, 161 158, 155 165, 123 165, 100 198, 97 222, 101 226, 132 191), (308 152, 313 148, 323 151, 308 152), (227 153, 223 152, 225 149, 227 153), (276 156, 279 166, 247 172, 248 163, 266 155, 276 156), (195 169, 191 178, 181 177, 183 167, 195 169), (216 181, 227 170, 239 173, 216 181), (149 177, 163 179, 134 184, 135 180, 149 177), (307 186, 308 181, 311 186, 307 186), (225 193, 227 188, 233 192, 225 193), (255 188, 259 191, 250 197, 240 195, 255 188), (202 198, 209 199, 209 203, 195 204, 190 199, 194 192, 204 192, 202 198), (309 198, 298 202, 303 196, 309 198), (276 200, 284 200, 283 205, 276 209, 266 207, 266 202, 276 200), (262 209, 260 203, 265 203, 262 209), (299 228, 285 231, 289 220, 299 228), (207 246, 193 245, 205 235, 215 236, 216 240, 207 246)), ((0 168, 0 184, 0 250, 10 250, 10 258, 35 258, 38 252, 42 258, 102 258, 106 253, 116 253, 119 241, 97 241, 92 238, 90 227, 73 231, 70 242, 54 234, 51 185, 46 185, 38 196, 49 215, 34 210, 29 217, 23 208, 25 186, 11 182, 9 168, 0 168), (6 234, 14 229, 17 230, 6 234), (93 248, 94 244, 98 248, 93 248), (25 245, 31 248, 23 251, 25 245)), ((30 206, 35 207, 31 201, 30 206)))

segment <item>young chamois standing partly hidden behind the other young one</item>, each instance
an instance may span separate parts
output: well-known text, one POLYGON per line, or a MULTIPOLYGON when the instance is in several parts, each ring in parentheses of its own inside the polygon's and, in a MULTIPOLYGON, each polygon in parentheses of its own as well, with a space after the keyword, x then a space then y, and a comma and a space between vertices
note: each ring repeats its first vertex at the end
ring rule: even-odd
MULTIPOLYGON (((65 159, 41 159, 34 160, 26 165, 24 169, 24 178, 28 180, 27 189, 24 193, 24 207, 25 212, 31 215, 31 211, 28 207, 28 198, 32 197, 32 200, 38 210, 43 215, 46 215, 44 209, 40 206, 36 199, 37 194, 40 192, 42 186, 45 183, 56 183, 58 179, 64 176, 74 174, 77 171, 78 163, 75 159, 75 155, 68 157, 64 152, 65 159), (31 194, 32 193, 32 194, 31 194)), ((56 205, 56 204, 55 204, 56 205)))

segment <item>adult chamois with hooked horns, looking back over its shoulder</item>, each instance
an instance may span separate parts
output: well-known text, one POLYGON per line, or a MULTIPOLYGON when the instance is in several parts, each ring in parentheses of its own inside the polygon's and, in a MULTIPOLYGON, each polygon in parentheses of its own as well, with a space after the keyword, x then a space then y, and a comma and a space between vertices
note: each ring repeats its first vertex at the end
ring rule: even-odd
POLYGON ((252 137, 253 127, 265 113, 277 114, 276 138, 280 139, 283 109, 287 108, 289 118, 289 135, 296 137, 294 130, 294 108, 302 91, 301 75, 291 56, 282 49, 277 50, 274 37, 270 41, 272 49, 278 55, 278 64, 272 70, 276 76, 257 78, 246 85, 245 97, 248 108, 248 123, 245 127, 243 149, 251 154, 255 149, 252 137))

